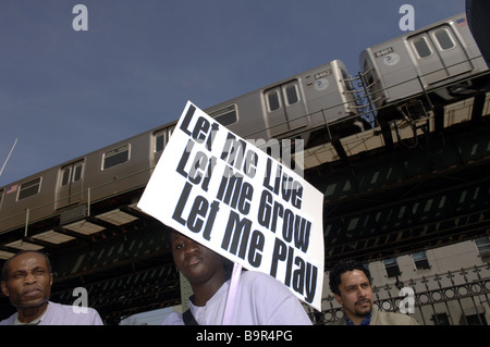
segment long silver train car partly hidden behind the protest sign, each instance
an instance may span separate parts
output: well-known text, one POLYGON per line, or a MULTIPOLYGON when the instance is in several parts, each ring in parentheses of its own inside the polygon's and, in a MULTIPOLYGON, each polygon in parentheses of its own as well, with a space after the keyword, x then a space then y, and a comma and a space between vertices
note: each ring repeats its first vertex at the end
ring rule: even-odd
MULTIPOLYGON (((358 133, 348 77, 335 60, 205 111, 245 139, 308 140, 326 134, 326 124, 335 134, 358 133)), ((0 187, 0 234, 48 219, 64 225, 98 201, 145 187, 175 124, 0 187)))

